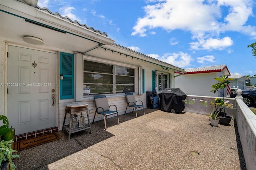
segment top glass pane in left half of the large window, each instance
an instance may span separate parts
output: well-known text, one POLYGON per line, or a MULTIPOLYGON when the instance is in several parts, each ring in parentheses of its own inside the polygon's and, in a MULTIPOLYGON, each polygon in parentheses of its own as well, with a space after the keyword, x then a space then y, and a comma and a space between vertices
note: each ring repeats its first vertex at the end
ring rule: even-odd
POLYGON ((113 65, 96 63, 84 60, 84 71, 98 72, 98 73, 113 73, 113 65))

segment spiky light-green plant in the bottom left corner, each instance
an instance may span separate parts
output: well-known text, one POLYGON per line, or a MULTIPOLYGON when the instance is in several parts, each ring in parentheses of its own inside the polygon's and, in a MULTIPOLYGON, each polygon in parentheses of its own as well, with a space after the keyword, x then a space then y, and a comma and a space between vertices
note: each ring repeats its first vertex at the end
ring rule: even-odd
POLYGON ((12 149, 12 142, 14 141, 0 141, 0 163, 2 164, 2 162, 7 160, 10 165, 10 170, 15 170, 16 166, 14 165, 14 162, 12 162, 12 159, 19 157, 19 155, 13 154, 13 152, 17 151, 12 149))

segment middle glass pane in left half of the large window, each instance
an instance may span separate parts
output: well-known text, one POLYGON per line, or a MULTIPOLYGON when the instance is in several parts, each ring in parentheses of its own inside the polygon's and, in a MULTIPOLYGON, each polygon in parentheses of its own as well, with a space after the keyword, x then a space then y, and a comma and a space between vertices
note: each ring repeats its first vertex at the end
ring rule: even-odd
POLYGON ((113 75, 100 73, 84 73, 84 83, 113 84, 113 75))

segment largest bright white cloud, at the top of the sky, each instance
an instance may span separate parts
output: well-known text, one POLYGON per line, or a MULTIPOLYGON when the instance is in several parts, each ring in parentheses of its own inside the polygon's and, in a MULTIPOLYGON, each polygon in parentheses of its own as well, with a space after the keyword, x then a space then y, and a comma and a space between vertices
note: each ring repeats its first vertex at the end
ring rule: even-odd
POLYGON ((146 36, 147 29, 163 28, 191 32, 218 28, 214 17, 220 17, 217 4, 203 4, 202 1, 164 1, 144 7, 146 16, 138 18, 132 35, 146 36))

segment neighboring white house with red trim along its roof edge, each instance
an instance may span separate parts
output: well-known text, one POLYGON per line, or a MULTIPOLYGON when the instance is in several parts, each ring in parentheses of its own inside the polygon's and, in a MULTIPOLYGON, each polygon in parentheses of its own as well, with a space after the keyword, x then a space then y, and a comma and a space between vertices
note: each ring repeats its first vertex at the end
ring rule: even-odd
POLYGON ((175 88, 180 88, 186 95, 220 97, 220 93, 214 94, 210 91, 212 90, 212 85, 218 82, 214 78, 224 75, 230 76, 226 65, 186 69, 184 75, 175 78, 175 88))

